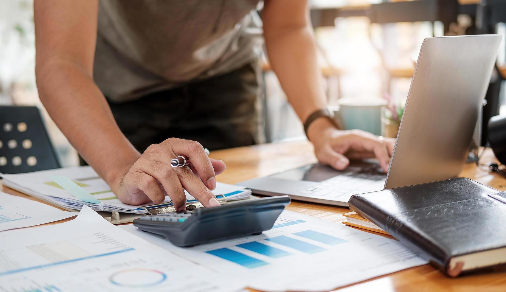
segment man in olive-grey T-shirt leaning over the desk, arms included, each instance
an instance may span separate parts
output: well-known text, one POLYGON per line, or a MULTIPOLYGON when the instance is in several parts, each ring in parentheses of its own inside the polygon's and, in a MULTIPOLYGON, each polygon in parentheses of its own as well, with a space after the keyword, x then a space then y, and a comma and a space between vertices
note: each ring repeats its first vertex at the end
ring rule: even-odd
MULTIPOLYGON (((168 195, 179 210, 186 189, 206 207, 219 205, 210 190, 225 163, 209 159, 201 144, 258 142, 247 33, 257 4, 35 0, 40 99, 121 201, 160 203, 168 195), (178 155, 192 167, 171 168, 178 155)), ((266 0, 262 20, 272 68, 318 160, 342 170, 348 158, 376 156, 386 171, 392 141, 340 131, 323 110, 308 1, 266 0)))

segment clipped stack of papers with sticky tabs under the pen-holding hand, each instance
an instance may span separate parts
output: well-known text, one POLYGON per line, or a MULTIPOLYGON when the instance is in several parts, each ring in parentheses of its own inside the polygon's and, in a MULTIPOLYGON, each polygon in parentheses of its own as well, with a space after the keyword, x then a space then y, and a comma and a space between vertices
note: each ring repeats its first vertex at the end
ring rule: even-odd
MULTIPOLYGON (((122 203, 111 191, 91 166, 77 166, 49 171, 39 171, 27 174, 2 175, 4 185, 22 193, 50 202, 67 210, 80 210, 82 205, 88 205, 95 211, 123 212, 134 214, 147 214, 143 205, 128 205, 122 203), (95 202, 83 201, 76 197, 66 186, 65 189, 52 180, 54 177, 66 177, 79 188, 93 196, 95 202)), ((74 184, 73 184, 74 185, 74 184)), ((74 185, 74 186, 75 186, 74 185)), ((72 187, 72 186, 70 186, 72 187)), ((215 195, 223 194, 227 200, 244 199, 251 196, 251 190, 244 187, 217 183, 213 191, 215 195)), ((195 200, 187 193, 190 201, 195 200)), ((166 198, 170 202, 170 198, 166 198)))

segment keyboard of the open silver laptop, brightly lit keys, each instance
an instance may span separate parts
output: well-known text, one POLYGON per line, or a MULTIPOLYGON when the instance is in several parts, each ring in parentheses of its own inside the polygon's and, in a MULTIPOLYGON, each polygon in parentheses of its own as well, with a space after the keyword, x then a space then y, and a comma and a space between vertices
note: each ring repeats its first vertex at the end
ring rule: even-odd
POLYGON ((376 167, 350 171, 301 190, 297 195, 348 202, 353 195, 383 190, 386 177, 376 167))

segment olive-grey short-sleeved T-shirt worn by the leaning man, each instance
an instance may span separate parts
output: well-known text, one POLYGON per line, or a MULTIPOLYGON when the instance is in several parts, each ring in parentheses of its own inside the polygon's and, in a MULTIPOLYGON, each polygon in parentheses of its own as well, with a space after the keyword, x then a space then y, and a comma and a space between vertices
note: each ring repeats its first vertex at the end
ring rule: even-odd
POLYGON ((122 102, 254 61, 258 0, 100 0, 94 79, 122 102))

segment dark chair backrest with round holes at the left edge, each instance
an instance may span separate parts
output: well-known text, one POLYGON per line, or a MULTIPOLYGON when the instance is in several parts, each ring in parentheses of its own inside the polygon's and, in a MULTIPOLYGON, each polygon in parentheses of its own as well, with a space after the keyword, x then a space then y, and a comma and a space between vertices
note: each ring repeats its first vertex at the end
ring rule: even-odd
POLYGON ((60 168, 36 106, 0 106, 0 173, 60 168))

